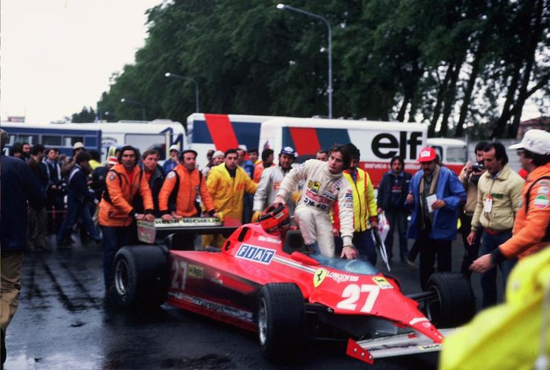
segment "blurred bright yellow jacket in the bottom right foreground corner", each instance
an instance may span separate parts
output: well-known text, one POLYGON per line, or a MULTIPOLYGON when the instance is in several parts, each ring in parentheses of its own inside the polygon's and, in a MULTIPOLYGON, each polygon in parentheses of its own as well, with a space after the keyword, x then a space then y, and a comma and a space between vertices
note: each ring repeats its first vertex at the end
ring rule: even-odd
POLYGON ((548 369, 543 356, 550 354, 550 328, 549 320, 542 318, 550 314, 549 301, 546 244, 516 264, 508 277, 504 304, 479 312, 445 338, 440 370, 548 369))

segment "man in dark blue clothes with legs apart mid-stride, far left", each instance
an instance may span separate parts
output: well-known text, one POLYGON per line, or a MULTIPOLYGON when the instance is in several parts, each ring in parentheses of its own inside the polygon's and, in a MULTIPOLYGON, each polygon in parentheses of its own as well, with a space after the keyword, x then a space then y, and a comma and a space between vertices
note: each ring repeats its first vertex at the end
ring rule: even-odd
POLYGON ((71 232, 78 216, 82 217, 82 225, 86 226, 95 243, 99 244, 101 242, 99 232, 93 224, 90 209, 87 205, 87 202, 93 202, 96 205, 99 204, 93 193, 88 190, 87 177, 88 173, 92 171, 89 164, 90 160, 91 156, 86 151, 78 153, 75 156, 75 165, 71 169, 71 172, 69 172, 69 177, 67 177, 67 215, 58 232, 58 249, 69 247, 63 244, 63 240, 65 240, 67 233, 71 232))

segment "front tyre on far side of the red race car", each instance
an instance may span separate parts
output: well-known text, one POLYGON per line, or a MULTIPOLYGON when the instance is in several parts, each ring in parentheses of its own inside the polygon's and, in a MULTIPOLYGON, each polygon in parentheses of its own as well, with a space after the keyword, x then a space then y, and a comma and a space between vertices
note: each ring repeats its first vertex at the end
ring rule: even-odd
POLYGON ((462 273, 433 273, 427 291, 435 293, 427 302, 427 317, 438 328, 453 328, 474 317, 474 293, 462 273))

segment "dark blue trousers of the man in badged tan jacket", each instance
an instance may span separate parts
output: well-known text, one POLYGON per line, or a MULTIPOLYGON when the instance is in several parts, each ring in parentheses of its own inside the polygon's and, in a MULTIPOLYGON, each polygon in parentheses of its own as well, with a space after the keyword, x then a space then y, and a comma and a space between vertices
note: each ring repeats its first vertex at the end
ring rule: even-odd
MULTIPOLYGON (((498 248, 499 245, 510 238, 512 238, 512 230, 501 232, 496 235, 489 234, 483 230, 479 256, 491 253, 494 249, 498 248)), ((513 260, 505 260, 500 262, 497 265, 499 269, 501 269, 503 286, 506 286, 508 275, 510 275, 510 271, 512 271, 512 268, 516 262, 517 260, 514 258, 513 260)), ((483 291, 483 300, 481 301, 481 305, 483 308, 497 304, 497 266, 492 267, 487 272, 481 274, 481 291, 483 291)))

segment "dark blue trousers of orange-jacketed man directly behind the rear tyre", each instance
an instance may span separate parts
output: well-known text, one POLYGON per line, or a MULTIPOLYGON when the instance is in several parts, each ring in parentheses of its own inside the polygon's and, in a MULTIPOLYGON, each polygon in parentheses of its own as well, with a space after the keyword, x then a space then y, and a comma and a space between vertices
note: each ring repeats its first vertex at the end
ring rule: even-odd
POLYGON ((115 284, 113 275, 113 266, 115 262, 115 254, 124 245, 132 243, 132 235, 134 228, 128 227, 110 227, 101 226, 103 231, 103 277, 105 288, 109 288, 115 284))

